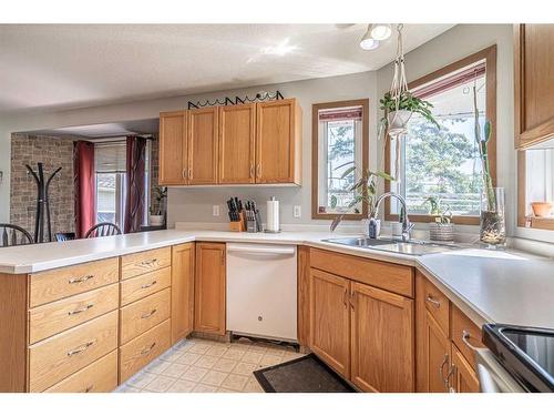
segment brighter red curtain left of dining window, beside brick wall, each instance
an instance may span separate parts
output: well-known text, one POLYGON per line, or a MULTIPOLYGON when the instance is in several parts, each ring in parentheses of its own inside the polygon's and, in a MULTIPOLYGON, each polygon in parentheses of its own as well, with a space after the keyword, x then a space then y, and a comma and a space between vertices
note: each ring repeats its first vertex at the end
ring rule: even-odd
POLYGON ((78 141, 73 145, 73 151, 75 235, 78 239, 81 239, 96 222, 94 144, 78 141))

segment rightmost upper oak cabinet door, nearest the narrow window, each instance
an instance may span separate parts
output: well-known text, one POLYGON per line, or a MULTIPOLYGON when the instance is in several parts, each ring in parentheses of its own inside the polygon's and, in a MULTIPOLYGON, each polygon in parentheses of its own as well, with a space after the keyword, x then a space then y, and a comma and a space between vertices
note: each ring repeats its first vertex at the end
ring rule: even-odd
POLYGON ((256 183, 299 183, 301 112, 295 99, 261 102, 256 115, 256 183))

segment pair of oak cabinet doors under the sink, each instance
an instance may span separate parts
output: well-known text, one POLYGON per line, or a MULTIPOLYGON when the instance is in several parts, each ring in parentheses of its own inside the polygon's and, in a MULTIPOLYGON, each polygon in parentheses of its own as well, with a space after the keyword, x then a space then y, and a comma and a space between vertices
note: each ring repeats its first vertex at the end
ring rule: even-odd
POLYGON ((413 392, 413 301, 310 270, 310 349, 363 392, 413 392))

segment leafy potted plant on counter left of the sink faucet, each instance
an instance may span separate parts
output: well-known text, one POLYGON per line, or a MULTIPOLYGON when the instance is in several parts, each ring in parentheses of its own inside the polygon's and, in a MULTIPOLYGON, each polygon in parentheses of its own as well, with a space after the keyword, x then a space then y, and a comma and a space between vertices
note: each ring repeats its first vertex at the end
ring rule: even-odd
MULTIPOLYGON (((348 175, 353 175, 355 172, 357 171, 358 168, 352 166, 347 169, 342 173, 342 179, 347 177, 348 175)), ((386 172, 372 172, 369 169, 362 171, 362 174, 360 179, 355 182, 352 186, 350 186, 349 191, 356 191, 356 195, 353 200, 348 204, 348 207, 351 209, 356 205, 359 205, 360 203, 367 203, 368 204, 368 216, 373 217, 376 214, 376 205, 375 202, 377 200, 377 181, 378 179, 383 179, 384 181, 393 181, 394 179, 389 175, 386 172)), ((334 200, 331 199, 331 206, 332 206, 334 200)), ((336 203, 336 200, 335 200, 336 203)), ((358 210, 357 210, 358 211, 358 210)), ((359 212, 359 211, 358 211, 359 212)), ((335 220, 331 223, 331 231, 335 231, 335 229, 340 224, 342 219, 345 217, 345 214, 340 214, 335 217, 335 220)), ((369 235, 375 235, 378 236, 379 232, 381 229, 381 221, 376 219, 375 223, 369 223, 369 235)))

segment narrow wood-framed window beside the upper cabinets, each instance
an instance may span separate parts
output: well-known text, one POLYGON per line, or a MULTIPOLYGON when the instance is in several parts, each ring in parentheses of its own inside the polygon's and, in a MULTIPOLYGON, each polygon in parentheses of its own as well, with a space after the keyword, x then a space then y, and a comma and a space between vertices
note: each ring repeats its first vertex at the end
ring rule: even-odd
POLYGON ((312 106, 312 219, 346 214, 367 215, 367 206, 352 206, 350 187, 368 168, 368 100, 340 101, 312 106), (342 177, 356 166, 355 175, 342 177))

